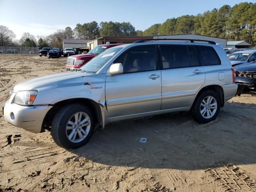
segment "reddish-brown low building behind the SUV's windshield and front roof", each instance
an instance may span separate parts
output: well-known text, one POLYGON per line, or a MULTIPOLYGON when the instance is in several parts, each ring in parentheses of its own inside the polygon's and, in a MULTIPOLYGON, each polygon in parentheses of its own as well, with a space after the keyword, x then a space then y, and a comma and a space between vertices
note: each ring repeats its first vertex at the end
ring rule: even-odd
POLYGON ((151 39, 152 36, 135 36, 135 37, 100 37, 94 40, 90 40, 87 42, 87 46, 90 50, 92 50, 94 47, 102 44, 115 44, 115 43, 133 43, 134 41, 140 40, 140 39, 151 39))

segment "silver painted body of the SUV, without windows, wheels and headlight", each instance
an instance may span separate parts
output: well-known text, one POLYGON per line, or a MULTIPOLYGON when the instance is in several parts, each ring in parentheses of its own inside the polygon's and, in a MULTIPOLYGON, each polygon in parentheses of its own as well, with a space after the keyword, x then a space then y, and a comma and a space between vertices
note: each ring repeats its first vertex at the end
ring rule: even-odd
MULTIPOLYGON (((4 118, 10 124, 31 132, 41 132, 47 112, 58 102, 83 98, 98 107, 100 126, 128 118, 188 111, 200 90, 206 86, 220 86, 223 102, 232 98, 237 90, 233 83, 231 64, 218 45, 187 42, 146 42, 125 44, 95 74, 61 72, 26 80, 17 84, 4 106, 4 118), (123 52, 133 46, 147 44, 191 44, 212 46, 221 65, 195 66, 111 75, 110 65, 123 52), (195 71, 201 71, 195 73, 195 71), (14 103, 15 94, 22 90, 37 90, 33 106, 14 103)), ((114 47, 114 48, 116 48, 114 47)), ((112 48, 110 48, 112 49, 112 48)))

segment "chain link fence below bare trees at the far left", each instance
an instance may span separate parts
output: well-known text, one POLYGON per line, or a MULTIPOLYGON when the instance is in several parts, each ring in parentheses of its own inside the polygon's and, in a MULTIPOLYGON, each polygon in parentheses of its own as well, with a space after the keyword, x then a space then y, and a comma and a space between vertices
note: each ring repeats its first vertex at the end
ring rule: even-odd
POLYGON ((38 54, 38 47, 6 47, 0 46, 0 54, 38 54))

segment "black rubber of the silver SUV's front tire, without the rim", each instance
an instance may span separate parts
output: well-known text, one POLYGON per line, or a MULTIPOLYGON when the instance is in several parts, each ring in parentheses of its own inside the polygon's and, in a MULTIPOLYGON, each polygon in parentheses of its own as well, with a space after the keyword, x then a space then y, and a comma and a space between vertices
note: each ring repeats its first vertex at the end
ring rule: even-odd
POLYGON ((88 108, 87 106, 84 106, 82 104, 68 104, 61 108, 57 114, 54 116, 54 119, 52 121, 52 129, 51 134, 53 140, 56 142, 56 144, 60 147, 70 149, 70 148, 79 148, 83 145, 85 145, 91 138, 93 132, 94 132, 94 115, 92 113, 92 110, 88 108), (67 134, 66 134, 66 126, 68 123, 68 120, 77 112, 85 112, 90 117, 90 130, 81 142, 74 143, 68 140, 67 134))

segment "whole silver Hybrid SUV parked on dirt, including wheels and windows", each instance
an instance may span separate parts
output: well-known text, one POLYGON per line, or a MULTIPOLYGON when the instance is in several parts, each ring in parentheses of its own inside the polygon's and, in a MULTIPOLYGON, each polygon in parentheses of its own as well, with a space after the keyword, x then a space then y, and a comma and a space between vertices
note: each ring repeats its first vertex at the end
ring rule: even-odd
POLYGON ((49 129, 64 148, 86 144, 96 126, 118 120, 190 110, 210 122, 237 84, 222 48, 194 41, 140 40, 105 50, 77 72, 21 82, 4 118, 34 133, 49 129))

